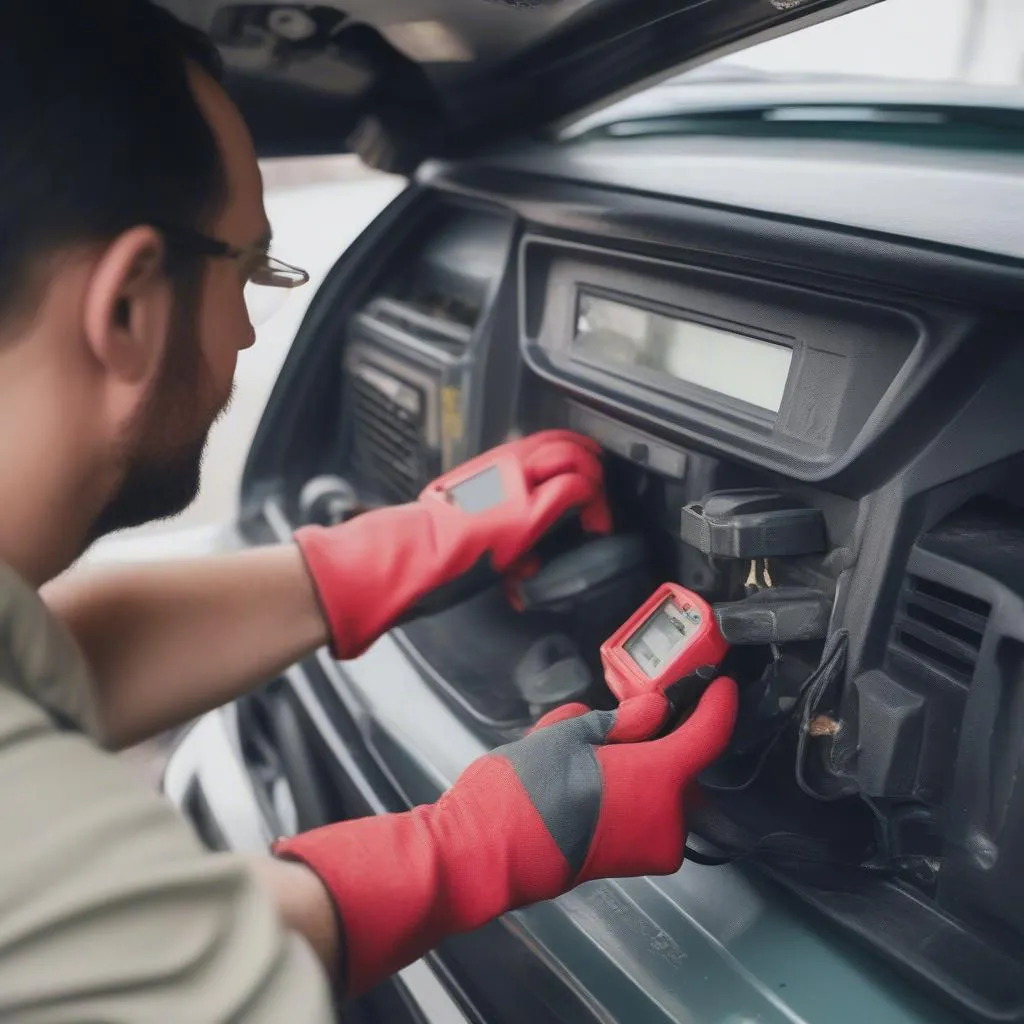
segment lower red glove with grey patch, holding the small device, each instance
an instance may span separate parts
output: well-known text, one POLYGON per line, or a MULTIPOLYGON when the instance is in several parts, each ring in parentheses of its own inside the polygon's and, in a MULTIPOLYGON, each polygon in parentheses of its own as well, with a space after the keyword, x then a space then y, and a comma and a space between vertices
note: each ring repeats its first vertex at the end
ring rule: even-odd
POLYGON ((660 691, 617 711, 567 705, 473 762, 437 801, 326 825, 274 847, 305 862, 339 910, 356 995, 446 935, 600 878, 683 861, 683 796, 724 750, 736 686, 720 677, 675 732, 660 691))

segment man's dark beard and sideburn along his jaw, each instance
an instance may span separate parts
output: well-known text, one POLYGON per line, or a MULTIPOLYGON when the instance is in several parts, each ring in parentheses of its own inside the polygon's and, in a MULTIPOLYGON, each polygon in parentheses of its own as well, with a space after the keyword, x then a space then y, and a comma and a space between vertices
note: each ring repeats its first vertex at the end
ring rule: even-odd
POLYGON ((87 546, 108 534, 178 515, 199 495, 210 429, 230 402, 232 389, 213 393, 199 343, 195 291, 182 293, 163 366, 131 431, 134 440, 126 445, 121 485, 93 522, 87 546))

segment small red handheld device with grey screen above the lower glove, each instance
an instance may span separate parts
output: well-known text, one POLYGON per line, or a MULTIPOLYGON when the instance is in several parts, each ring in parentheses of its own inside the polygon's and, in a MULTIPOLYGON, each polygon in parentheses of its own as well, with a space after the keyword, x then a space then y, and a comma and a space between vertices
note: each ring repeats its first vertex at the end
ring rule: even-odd
POLYGON ((625 700, 717 666, 728 649, 712 606, 665 583, 601 644, 601 664, 608 688, 625 700))

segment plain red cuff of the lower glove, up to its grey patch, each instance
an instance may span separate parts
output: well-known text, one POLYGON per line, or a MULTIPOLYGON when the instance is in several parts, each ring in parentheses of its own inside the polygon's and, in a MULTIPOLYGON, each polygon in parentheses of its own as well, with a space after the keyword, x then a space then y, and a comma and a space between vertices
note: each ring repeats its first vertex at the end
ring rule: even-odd
POLYGON ((337 906, 349 996, 446 935, 557 896, 569 874, 512 764, 490 755, 436 804, 325 825, 273 853, 309 867, 337 906))

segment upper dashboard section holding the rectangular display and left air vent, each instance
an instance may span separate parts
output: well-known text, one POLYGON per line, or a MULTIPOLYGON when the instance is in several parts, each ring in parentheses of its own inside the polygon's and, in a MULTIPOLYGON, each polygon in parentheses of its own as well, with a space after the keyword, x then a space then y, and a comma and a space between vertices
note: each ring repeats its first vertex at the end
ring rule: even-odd
MULTIPOLYGON (((409 477, 385 488, 396 498, 478 442, 552 425, 669 477, 696 449, 863 493, 912 455, 901 418, 978 329, 964 306, 861 280, 793 267, 772 278, 763 264, 659 258, 520 225, 442 204, 408 272, 392 270, 352 317, 349 373, 356 357, 382 369, 379 354, 408 366, 417 387, 431 377, 422 439, 398 438, 388 456, 392 475, 409 477), (453 318, 470 304, 465 323, 453 318), (847 470, 849 485, 838 479, 847 470)), ((386 404, 368 417, 404 424, 386 404)), ((947 410, 927 415, 938 429, 947 410)))

